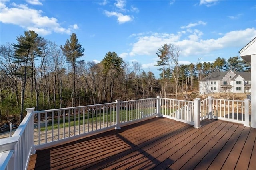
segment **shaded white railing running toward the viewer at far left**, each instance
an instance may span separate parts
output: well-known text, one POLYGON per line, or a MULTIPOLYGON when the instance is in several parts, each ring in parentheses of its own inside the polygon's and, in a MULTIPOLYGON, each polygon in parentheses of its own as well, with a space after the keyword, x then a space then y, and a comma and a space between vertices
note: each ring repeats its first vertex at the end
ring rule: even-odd
POLYGON ((26 109, 27 115, 12 137, 0 139, 0 169, 20 170, 28 166, 30 155, 34 151, 34 108, 26 109))

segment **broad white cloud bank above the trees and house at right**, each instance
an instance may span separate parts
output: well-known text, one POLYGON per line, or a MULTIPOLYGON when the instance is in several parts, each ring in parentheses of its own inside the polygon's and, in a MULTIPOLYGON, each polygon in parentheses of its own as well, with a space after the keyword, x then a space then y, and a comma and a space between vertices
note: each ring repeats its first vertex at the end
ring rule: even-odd
MULTIPOLYGON (((155 56, 156 51, 165 43, 178 45, 182 56, 207 55, 213 51, 218 51, 230 47, 244 47, 244 44, 251 41, 256 35, 255 28, 231 31, 221 35, 217 39, 201 39, 203 33, 194 30, 194 33, 188 35, 188 39, 181 40, 182 33, 150 33, 136 37, 137 41, 132 44, 129 56, 155 56)), ((200 56, 201 57, 201 56, 200 56)))

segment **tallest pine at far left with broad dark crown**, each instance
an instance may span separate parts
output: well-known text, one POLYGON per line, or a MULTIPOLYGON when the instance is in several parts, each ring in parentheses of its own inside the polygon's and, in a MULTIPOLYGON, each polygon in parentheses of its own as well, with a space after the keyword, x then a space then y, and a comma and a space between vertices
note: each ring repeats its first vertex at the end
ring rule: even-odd
MULTIPOLYGON (((21 72, 22 76, 22 92, 21 92, 21 111, 20 111, 20 121, 23 119, 23 107, 24 107, 24 97, 25 97, 25 89, 27 82, 27 71, 28 71, 28 62, 34 61, 34 58, 39 56, 42 53, 42 49, 40 48, 40 43, 44 41, 42 37, 39 37, 37 33, 34 31, 25 31, 24 36, 19 35, 16 40, 17 44, 13 43, 12 47, 15 51, 15 63, 21 64, 21 72)), ((33 66, 32 66, 33 67, 33 66)))

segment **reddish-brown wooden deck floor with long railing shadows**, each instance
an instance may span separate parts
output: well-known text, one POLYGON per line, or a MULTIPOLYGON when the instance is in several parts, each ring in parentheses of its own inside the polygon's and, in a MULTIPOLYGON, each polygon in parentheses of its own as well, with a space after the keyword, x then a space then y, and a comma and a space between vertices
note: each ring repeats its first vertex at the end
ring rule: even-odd
POLYGON ((31 169, 256 170, 256 129, 205 120, 199 129, 166 118, 37 150, 31 169))

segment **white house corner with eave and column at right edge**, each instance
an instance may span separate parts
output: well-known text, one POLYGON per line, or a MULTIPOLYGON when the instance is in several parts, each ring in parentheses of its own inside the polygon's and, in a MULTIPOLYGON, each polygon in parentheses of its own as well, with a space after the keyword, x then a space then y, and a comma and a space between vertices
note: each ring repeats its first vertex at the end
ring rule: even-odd
MULTIPOLYGON (((244 61, 251 63, 251 77, 256 75, 256 37, 239 53, 244 61)), ((256 78, 251 80, 251 127, 256 128, 256 78)))

